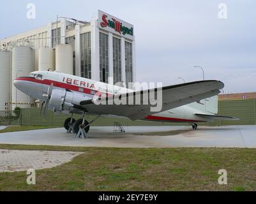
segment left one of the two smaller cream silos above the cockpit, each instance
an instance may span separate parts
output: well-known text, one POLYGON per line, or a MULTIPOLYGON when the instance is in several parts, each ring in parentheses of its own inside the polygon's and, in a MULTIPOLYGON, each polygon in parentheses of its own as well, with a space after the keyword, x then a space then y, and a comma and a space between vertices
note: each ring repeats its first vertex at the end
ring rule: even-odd
POLYGON ((41 47, 38 50, 38 71, 55 70, 54 50, 49 47, 41 47))

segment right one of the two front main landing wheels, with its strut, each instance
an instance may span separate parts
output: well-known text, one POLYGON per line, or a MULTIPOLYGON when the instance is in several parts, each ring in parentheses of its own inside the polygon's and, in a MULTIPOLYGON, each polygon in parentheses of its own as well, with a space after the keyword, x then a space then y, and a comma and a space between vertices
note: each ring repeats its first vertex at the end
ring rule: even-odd
POLYGON ((75 123, 73 124, 75 138, 80 138, 80 136, 82 136, 82 138, 84 139, 87 138, 87 133, 89 132, 90 124, 85 119, 85 117, 86 117, 86 112, 83 113, 82 119, 75 121, 75 123))

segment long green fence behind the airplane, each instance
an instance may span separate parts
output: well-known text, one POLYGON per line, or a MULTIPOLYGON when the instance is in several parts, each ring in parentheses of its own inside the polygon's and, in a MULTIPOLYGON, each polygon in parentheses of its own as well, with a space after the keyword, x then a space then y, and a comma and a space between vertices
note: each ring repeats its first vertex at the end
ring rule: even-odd
MULTIPOLYGON (((227 125, 254 125, 256 124, 256 99, 219 101, 219 114, 237 117, 240 120, 216 120, 215 122, 202 123, 207 126, 227 125)), ((24 108, 21 112, 0 112, 0 125, 21 125, 21 126, 63 126, 64 120, 69 115, 63 113, 56 115, 49 111, 46 117, 40 115, 40 108, 24 108)), ((81 115, 75 115, 79 119, 81 115)), ((95 116, 88 115, 87 120, 93 120, 95 116)), ((123 126, 170 126, 188 125, 186 123, 169 122, 147 122, 142 120, 132 121, 120 117, 100 117, 93 126, 113 126, 114 122, 120 122, 123 126)))

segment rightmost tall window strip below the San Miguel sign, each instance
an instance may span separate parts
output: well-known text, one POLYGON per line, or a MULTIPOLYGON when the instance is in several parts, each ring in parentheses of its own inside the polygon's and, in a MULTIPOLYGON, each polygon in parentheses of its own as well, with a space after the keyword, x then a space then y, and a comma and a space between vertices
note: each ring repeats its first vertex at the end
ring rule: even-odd
POLYGON ((133 82, 132 43, 128 41, 125 41, 125 74, 128 87, 129 82, 133 82))

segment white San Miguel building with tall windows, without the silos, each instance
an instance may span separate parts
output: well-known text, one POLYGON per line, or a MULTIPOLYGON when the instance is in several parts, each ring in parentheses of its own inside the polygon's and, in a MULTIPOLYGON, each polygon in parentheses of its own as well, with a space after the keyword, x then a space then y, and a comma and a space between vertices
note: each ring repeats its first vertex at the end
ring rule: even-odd
POLYGON ((41 47, 56 49, 56 45, 71 44, 73 75, 109 84, 136 80, 133 25, 103 11, 98 11, 98 19, 91 22, 59 18, 38 29, 4 38, 0 40, 0 47, 5 44, 11 50, 26 45, 27 41, 36 50, 34 70, 38 70, 41 47), (126 73, 130 73, 129 77, 126 73))

